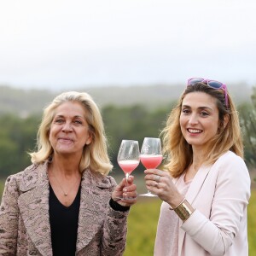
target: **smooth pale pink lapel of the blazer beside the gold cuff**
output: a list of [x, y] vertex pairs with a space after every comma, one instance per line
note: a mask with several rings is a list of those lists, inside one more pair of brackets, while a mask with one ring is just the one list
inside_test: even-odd
[[[200, 193], [201, 187], [203, 186], [208, 173], [211, 170], [211, 166], [201, 166], [201, 168], [196, 173], [193, 181], [190, 183], [189, 190], [186, 194], [186, 199], [193, 206], [193, 202], [195, 201], [196, 196]], [[183, 224], [182, 220], [179, 220], [179, 225]], [[178, 255], [181, 255], [183, 241], [185, 237], [184, 230], [180, 229], [178, 234]]]

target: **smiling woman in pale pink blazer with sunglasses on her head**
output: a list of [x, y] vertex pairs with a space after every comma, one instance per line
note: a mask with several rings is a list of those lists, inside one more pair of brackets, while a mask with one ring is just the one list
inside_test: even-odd
[[189, 79], [163, 135], [168, 172], [145, 171], [163, 201], [154, 255], [248, 255], [251, 182], [226, 85]]

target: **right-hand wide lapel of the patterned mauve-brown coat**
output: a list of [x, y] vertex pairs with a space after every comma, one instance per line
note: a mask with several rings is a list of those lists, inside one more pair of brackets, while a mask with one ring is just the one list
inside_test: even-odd
[[86, 247], [103, 229], [112, 185], [108, 177], [85, 170], [81, 182], [77, 252]]

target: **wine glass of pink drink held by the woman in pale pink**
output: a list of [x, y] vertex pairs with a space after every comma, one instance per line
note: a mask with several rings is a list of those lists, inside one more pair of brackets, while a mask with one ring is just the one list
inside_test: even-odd
[[[157, 137], [145, 137], [141, 149], [140, 160], [146, 169], [155, 169], [160, 165], [163, 159], [161, 150], [161, 141]], [[152, 194], [149, 190], [143, 196], [157, 196]]]

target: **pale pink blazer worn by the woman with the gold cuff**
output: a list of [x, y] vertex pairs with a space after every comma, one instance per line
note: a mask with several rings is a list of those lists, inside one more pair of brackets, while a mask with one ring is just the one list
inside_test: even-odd
[[[184, 223], [179, 220], [178, 256], [247, 256], [250, 185], [247, 166], [230, 151], [212, 166], [202, 166], [186, 194], [196, 210]], [[166, 227], [164, 218], [160, 215], [160, 226]]]

